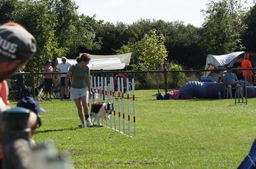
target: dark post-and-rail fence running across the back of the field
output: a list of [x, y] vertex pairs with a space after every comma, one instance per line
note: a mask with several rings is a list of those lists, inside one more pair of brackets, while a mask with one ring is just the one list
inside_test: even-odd
[[[223, 69], [225, 70], [225, 69]], [[223, 71], [222, 69], [218, 71]], [[236, 70], [254, 70], [248, 69], [234, 69]], [[116, 74], [123, 74], [129, 81], [135, 79], [135, 91], [137, 96], [143, 98], [155, 98], [158, 93], [165, 94], [170, 90], [179, 90], [181, 86], [187, 81], [200, 81], [206, 71], [216, 70], [158, 70], [158, 71], [91, 71], [91, 76], [113, 77]], [[52, 83], [47, 83], [44, 77], [46, 74], [54, 76]], [[52, 98], [60, 99], [60, 74], [65, 73], [40, 73], [40, 72], [25, 72], [15, 73], [15, 75], [8, 79], [9, 86], [9, 100], [19, 100], [25, 96], [33, 96], [36, 94], [36, 87], [42, 85], [41, 98], [46, 97], [46, 92], [49, 90]], [[24, 76], [25, 81], [20, 81], [20, 76]], [[108, 81], [109, 82], [109, 81]], [[150, 92], [148, 92], [150, 91]]]

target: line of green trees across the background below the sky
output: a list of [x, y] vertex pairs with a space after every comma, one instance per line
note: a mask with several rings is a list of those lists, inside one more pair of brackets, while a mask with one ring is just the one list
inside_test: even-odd
[[255, 50], [255, 2], [251, 8], [245, 6], [242, 0], [209, 0], [201, 11], [204, 22], [196, 27], [161, 19], [104, 22], [78, 14], [72, 0], [1, 0], [0, 24], [20, 23], [35, 36], [37, 52], [27, 71], [40, 72], [46, 60], [74, 59], [79, 52], [133, 52], [131, 70], [156, 70], [171, 64], [199, 69], [208, 54]]

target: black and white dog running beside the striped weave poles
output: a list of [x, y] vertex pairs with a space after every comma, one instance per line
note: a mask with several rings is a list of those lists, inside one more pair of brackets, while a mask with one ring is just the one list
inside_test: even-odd
[[[92, 103], [92, 108], [91, 108], [91, 119], [92, 119], [92, 123], [95, 124], [95, 122], [98, 124], [98, 126], [102, 126], [100, 124], [100, 120], [99, 119], [106, 119], [106, 111], [105, 111], [105, 102], [93, 102]], [[106, 109], [108, 111], [108, 119], [110, 119], [110, 103], [107, 103]]]

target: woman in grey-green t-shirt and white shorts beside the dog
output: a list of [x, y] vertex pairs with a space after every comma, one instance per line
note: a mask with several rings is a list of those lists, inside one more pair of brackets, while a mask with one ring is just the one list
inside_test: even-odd
[[[65, 78], [66, 83], [66, 95], [69, 94], [69, 81], [68, 79], [72, 76], [71, 88], [70, 88], [70, 99], [74, 99], [79, 118], [82, 122], [82, 127], [93, 126], [91, 119], [89, 118], [88, 108], [88, 96], [92, 96], [91, 92], [91, 80], [90, 80], [90, 69], [87, 66], [91, 60], [91, 56], [88, 53], [82, 53], [80, 57], [76, 58], [77, 64], [72, 65]], [[83, 118], [86, 118], [86, 123]]]

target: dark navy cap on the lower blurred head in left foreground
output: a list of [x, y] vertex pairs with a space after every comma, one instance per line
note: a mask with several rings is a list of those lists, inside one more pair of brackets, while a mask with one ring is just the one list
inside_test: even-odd
[[38, 101], [33, 97], [24, 97], [20, 99], [17, 103], [17, 106], [24, 107], [33, 111], [38, 119], [39, 126], [41, 125], [41, 115], [40, 112], [46, 112], [44, 108], [41, 108], [38, 104]]

